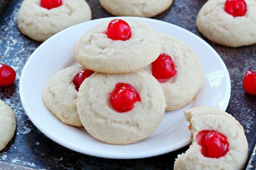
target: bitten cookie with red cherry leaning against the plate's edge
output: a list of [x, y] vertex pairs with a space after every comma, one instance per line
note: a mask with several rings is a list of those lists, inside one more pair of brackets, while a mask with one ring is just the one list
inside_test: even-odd
[[211, 107], [185, 111], [190, 122], [192, 144], [178, 155], [174, 170], [241, 170], [246, 164], [248, 143], [244, 129], [228, 113]]

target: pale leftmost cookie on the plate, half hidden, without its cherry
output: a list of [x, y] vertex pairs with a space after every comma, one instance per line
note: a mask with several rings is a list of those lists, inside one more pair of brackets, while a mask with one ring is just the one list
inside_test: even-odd
[[58, 71], [47, 82], [43, 91], [45, 106], [61, 122], [73, 126], [83, 126], [76, 110], [77, 90], [72, 82], [81, 70], [82, 67], [73, 66]]

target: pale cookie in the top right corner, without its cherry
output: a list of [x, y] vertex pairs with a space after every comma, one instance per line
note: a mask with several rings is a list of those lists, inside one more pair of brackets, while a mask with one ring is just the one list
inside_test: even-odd
[[[256, 43], [256, 1], [245, 0], [247, 11], [234, 17], [225, 9], [226, 0], [209, 0], [198, 12], [196, 26], [207, 39], [228, 47]], [[235, 5], [236, 2], [234, 2]], [[237, 6], [241, 5], [237, 1]], [[235, 11], [235, 10], [234, 10]]]

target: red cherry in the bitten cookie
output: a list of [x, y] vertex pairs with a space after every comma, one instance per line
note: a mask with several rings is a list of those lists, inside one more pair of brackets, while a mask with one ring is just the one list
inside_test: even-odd
[[229, 151], [228, 139], [215, 130], [202, 130], [196, 135], [201, 153], [207, 158], [220, 158]]

